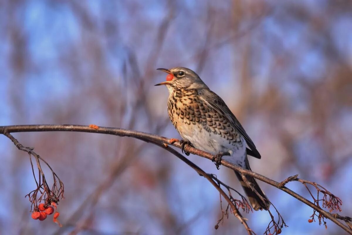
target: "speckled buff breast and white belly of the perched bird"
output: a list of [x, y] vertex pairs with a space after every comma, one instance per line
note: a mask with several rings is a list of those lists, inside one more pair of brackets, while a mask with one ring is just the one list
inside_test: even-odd
[[170, 94], [168, 113], [178, 133], [196, 148], [216, 154], [245, 145], [226, 118], [204, 104], [196, 90]]

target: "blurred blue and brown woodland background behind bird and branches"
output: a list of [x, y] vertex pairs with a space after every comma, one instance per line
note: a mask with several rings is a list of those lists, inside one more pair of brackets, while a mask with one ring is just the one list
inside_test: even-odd
[[[322, 184], [352, 216], [352, 2], [0, 1], [0, 125], [96, 124], [176, 137], [156, 68], [188, 67], [218, 93], [277, 181]], [[14, 133], [65, 184], [51, 218], [30, 217], [29, 157], [0, 136], [0, 234], [245, 234], [221, 218], [219, 193], [175, 156], [127, 137]], [[240, 188], [231, 170], [189, 159]], [[46, 172], [49, 171], [45, 169]], [[283, 234], [343, 234], [308, 223], [313, 210], [262, 184]], [[288, 187], [309, 198], [300, 183]], [[226, 204], [224, 203], [224, 206]], [[269, 214], [244, 215], [262, 234]]]

